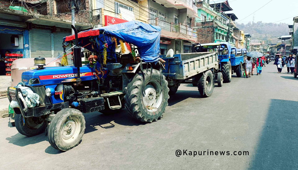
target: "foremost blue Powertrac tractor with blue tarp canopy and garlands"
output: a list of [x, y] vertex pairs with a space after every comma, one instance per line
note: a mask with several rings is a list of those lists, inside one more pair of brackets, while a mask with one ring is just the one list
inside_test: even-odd
[[[8, 88], [9, 101], [17, 103], [13, 110], [20, 134], [48, 132], [51, 146], [67, 151], [83, 137], [82, 113], [111, 114], [125, 107], [143, 122], [162, 117], [169, 88], [161, 71], [159, 27], [130, 21], [79, 33], [72, 29], [75, 34], [64, 37], [63, 43], [73, 48], [75, 66], [43, 67], [45, 59], [37, 57], [38, 69], [22, 74], [23, 86]], [[117, 44], [131, 50], [116, 52]], [[140, 53], [135, 56], [136, 46]], [[86, 66], [82, 66], [81, 47], [93, 53]], [[109, 63], [121, 67], [108, 68]], [[29, 94], [38, 95], [36, 106], [28, 104]]]

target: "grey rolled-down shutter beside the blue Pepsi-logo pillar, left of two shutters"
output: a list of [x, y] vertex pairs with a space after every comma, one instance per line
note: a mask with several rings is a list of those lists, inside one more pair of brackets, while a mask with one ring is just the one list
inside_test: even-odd
[[30, 57], [52, 57], [51, 31], [43, 29], [30, 30]]

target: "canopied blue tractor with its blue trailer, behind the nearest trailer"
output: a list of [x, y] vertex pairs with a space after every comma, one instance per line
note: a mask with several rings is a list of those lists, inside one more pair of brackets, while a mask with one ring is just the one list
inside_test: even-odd
[[243, 55], [237, 54], [237, 49], [232, 48], [228, 42], [198, 44], [199, 51], [218, 53], [219, 69], [222, 73], [224, 83], [230, 83], [233, 72], [236, 72], [237, 77], [242, 75]]

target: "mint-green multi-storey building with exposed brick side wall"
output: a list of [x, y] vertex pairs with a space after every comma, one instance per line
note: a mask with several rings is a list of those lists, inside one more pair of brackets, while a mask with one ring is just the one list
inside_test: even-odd
[[235, 46], [238, 37], [233, 35], [233, 31], [239, 31], [239, 29], [235, 25], [236, 15], [225, 13], [233, 10], [228, 1], [199, 0], [196, 2], [196, 6], [200, 18], [193, 19], [192, 26], [198, 32], [197, 41], [199, 43], [228, 41]]

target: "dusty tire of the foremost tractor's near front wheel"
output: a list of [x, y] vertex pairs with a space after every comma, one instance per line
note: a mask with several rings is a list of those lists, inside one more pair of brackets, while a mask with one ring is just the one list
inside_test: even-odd
[[[65, 143], [61, 137], [61, 130], [69, 117], [76, 117], [80, 121], [81, 127], [77, 138], [71, 143]], [[68, 151], [76, 147], [82, 141], [85, 125], [86, 121], [82, 112], [74, 108], [62, 109], [55, 115], [48, 128], [48, 138], [51, 146], [60, 151]]]

